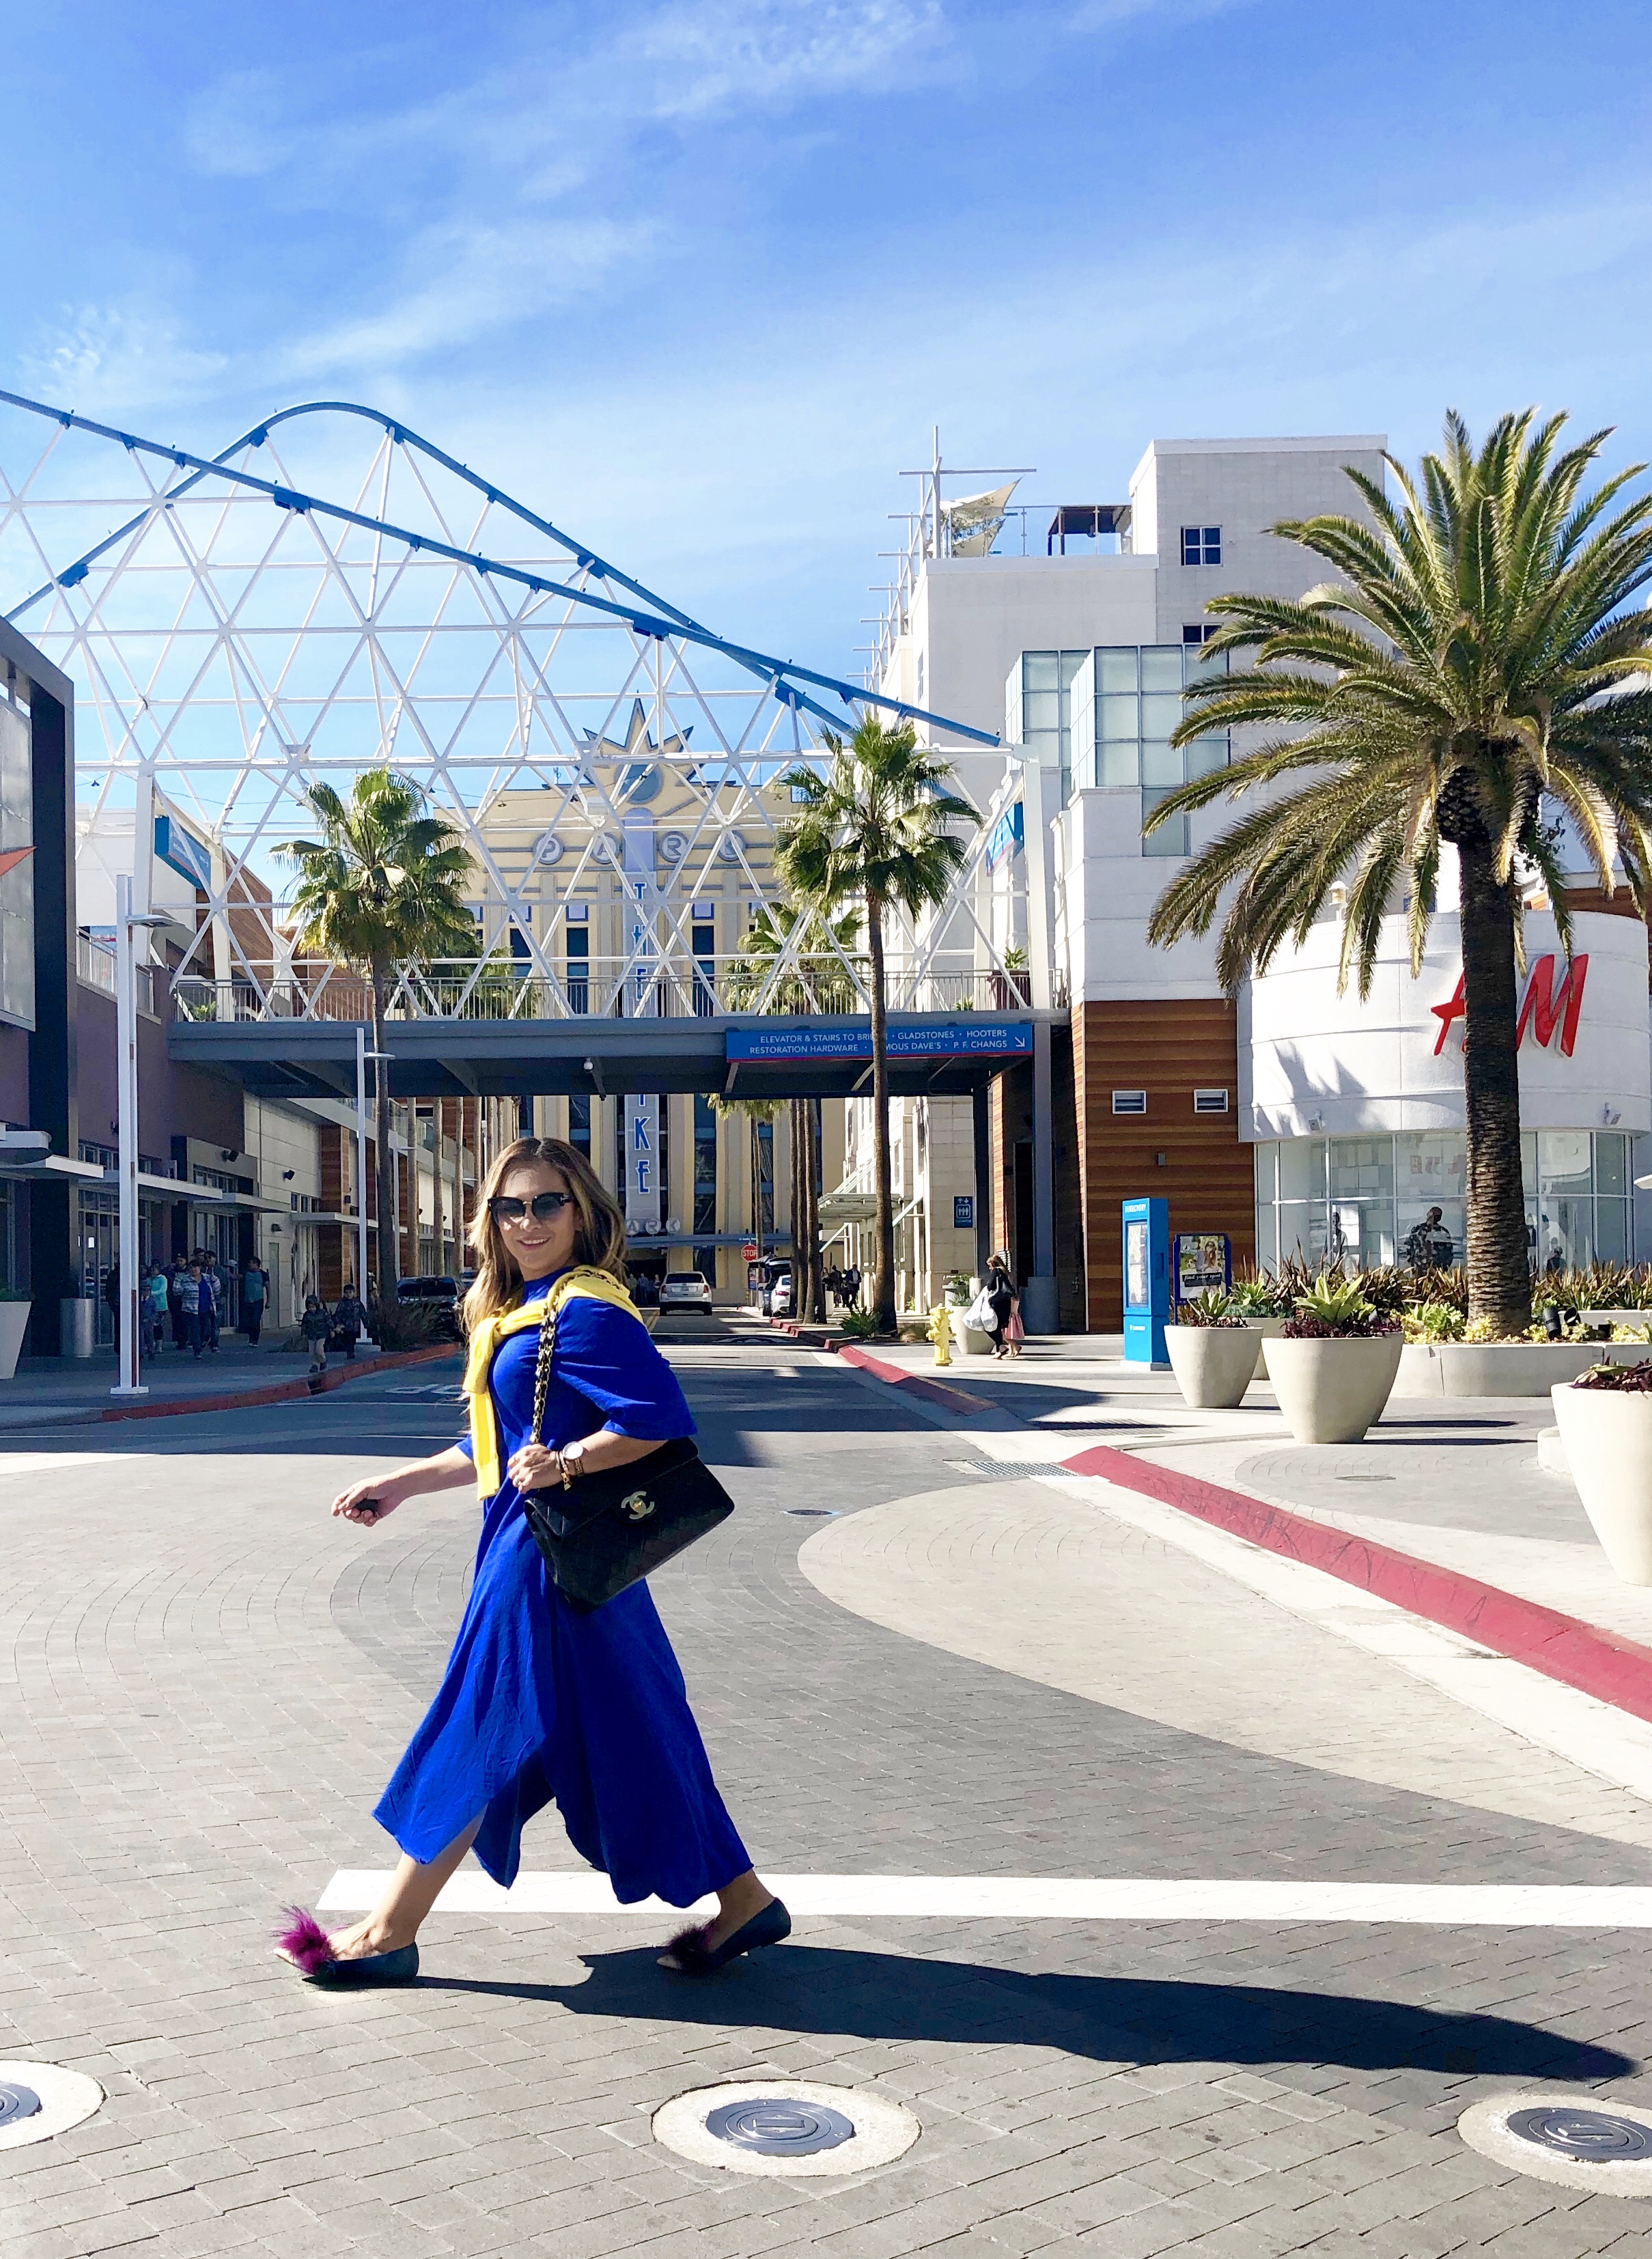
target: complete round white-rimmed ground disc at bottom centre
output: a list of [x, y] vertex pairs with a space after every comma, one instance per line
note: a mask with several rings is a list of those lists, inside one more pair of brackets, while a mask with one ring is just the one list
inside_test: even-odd
[[653, 2112], [653, 2139], [678, 2157], [768, 2178], [868, 2173], [904, 2157], [920, 2130], [884, 2094], [795, 2078], [698, 2087]]

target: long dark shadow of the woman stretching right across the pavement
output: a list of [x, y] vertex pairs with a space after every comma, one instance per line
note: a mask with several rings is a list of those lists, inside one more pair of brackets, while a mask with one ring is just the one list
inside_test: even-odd
[[427, 1977], [425, 1990], [533, 1999], [572, 2015], [809, 2031], [857, 2040], [1060, 2047], [1098, 2062], [1336, 2062], [1446, 2076], [1623, 2078], [1611, 2047], [1501, 2015], [1270, 1986], [1019, 1974], [974, 1961], [784, 1945], [710, 1981], [662, 1970], [658, 1945], [583, 1954], [583, 1983]]

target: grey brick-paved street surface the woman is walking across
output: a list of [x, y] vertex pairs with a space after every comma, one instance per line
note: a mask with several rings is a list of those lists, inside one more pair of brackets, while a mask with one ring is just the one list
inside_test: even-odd
[[[1333, 1606], [694, 1324], [669, 1351], [741, 1511], [655, 1597], [759, 1868], [1652, 1884], [1652, 1803]], [[9, 1439], [0, 2056], [108, 2099], [0, 2153], [7, 2259], [1652, 2248], [1643, 2205], [1455, 2130], [1523, 2087], [1652, 2103], [1632, 1929], [800, 1916], [694, 1988], [655, 1965], [669, 1916], [438, 1911], [416, 1988], [301, 1986], [271, 1925], [391, 1861], [368, 1812], [475, 1536], [463, 1493], [373, 1534], [325, 1507], [450, 1439], [452, 1383]], [[524, 1868], [574, 1866], [540, 1816]], [[922, 2132], [838, 2180], [653, 2142], [664, 2101], [744, 2078], [872, 2090]]]

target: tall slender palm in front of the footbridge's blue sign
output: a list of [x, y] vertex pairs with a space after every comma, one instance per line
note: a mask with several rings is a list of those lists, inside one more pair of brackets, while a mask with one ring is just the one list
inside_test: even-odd
[[802, 813], [775, 834], [775, 870], [795, 901], [829, 915], [845, 901], [866, 910], [872, 969], [872, 1152], [877, 1168], [877, 1270], [872, 1308], [879, 1333], [895, 1333], [895, 1200], [888, 1163], [888, 989], [884, 917], [936, 910], [965, 863], [945, 825], [979, 825], [967, 800], [949, 793], [951, 764], [918, 743], [911, 723], [886, 730], [868, 714], [854, 736], [825, 732], [825, 777], [793, 768], [782, 777]]

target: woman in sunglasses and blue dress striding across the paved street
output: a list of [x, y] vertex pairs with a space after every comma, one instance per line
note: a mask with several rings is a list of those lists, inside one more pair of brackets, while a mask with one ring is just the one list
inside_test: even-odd
[[[646, 1584], [576, 1615], [545, 1570], [522, 1491], [628, 1466], [694, 1432], [682, 1392], [621, 1285], [626, 1227], [590, 1163], [560, 1139], [520, 1139], [488, 1170], [466, 1294], [470, 1439], [434, 1459], [350, 1484], [332, 1502], [373, 1527], [405, 1500], [475, 1482], [481, 1543], [447, 1674], [395, 1767], [375, 1818], [402, 1861], [362, 1922], [328, 1936], [307, 1913], [278, 1938], [312, 1983], [407, 1983], [418, 1927], [475, 1846], [506, 1889], [524, 1823], [551, 1798], [574, 1850], [615, 1898], [692, 1907], [716, 1893], [703, 1929], [664, 1968], [703, 1977], [777, 1945], [791, 1916], [753, 1873], [716, 1794], [682, 1672]], [[554, 1362], [545, 1437], [533, 1439], [533, 1376], [545, 1299]]]

